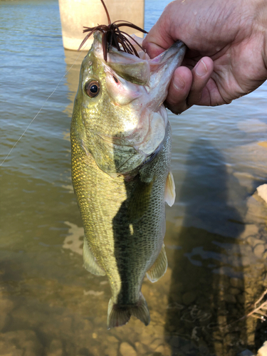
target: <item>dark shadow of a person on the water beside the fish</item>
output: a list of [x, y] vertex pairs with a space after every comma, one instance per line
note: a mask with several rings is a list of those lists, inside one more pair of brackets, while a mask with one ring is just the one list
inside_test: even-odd
[[184, 221], [171, 237], [179, 248], [169, 261], [172, 279], [165, 339], [172, 355], [236, 355], [246, 345], [246, 329], [236, 323], [224, 327], [245, 315], [236, 239], [244, 224], [239, 212], [227, 204], [226, 165], [211, 142], [193, 143], [187, 167], [177, 197], [186, 204]]

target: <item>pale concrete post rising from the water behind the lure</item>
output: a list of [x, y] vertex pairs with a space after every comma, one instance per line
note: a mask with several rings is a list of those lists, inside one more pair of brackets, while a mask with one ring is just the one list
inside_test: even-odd
[[[61, 14], [63, 46], [77, 51], [87, 33], [83, 26], [94, 27], [98, 24], [108, 25], [105, 9], [100, 0], [58, 0]], [[104, 0], [110, 14], [111, 22], [117, 20], [130, 21], [144, 28], [145, 0]], [[142, 32], [134, 28], [122, 27], [122, 31], [130, 35], [135, 33], [142, 37]], [[93, 42], [93, 36], [88, 39], [83, 50], [88, 51]]]

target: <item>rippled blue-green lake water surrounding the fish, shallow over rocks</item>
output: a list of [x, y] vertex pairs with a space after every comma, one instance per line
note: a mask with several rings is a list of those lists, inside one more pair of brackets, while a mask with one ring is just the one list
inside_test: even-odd
[[[147, 31], [167, 2], [146, 2]], [[169, 268], [144, 281], [150, 325], [132, 318], [108, 331], [110, 288], [83, 268], [70, 182], [84, 53], [64, 51], [57, 1], [1, 1], [0, 23], [1, 162], [70, 69], [0, 168], [1, 355], [255, 352], [266, 322], [237, 320], [267, 288], [266, 205], [255, 194], [267, 181], [267, 85], [231, 105], [169, 114], [177, 189], [167, 208]]]

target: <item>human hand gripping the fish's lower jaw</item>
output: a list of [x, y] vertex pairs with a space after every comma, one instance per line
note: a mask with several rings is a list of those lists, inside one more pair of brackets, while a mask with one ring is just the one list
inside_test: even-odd
[[176, 114], [231, 103], [267, 79], [266, 0], [172, 1], [142, 46], [154, 58], [178, 39], [188, 50], [165, 102]]

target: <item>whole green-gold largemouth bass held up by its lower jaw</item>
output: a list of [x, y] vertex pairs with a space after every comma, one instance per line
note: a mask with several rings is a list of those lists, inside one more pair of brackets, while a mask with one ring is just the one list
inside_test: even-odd
[[103, 58], [102, 33], [80, 69], [71, 122], [72, 180], [85, 230], [83, 260], [108, 276], [108, 328], [150, 312], [141, 286], [167, 270], [165, 206], [174, 203], [171, 127], [162, 103], [185, 46], [175, 43], [150, 59], [111, 47]]

